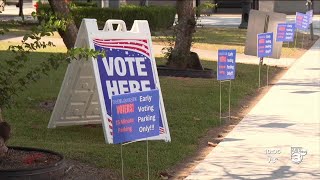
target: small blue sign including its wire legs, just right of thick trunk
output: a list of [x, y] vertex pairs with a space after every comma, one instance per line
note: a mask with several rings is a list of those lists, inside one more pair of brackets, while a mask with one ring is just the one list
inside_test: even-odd
[[[231, 81], [235, 79], [236, 74], [236, 50], [218, 50], [218, 63], [217, 63], [217, 80], [220, 84], [220, 124], [222, 118], [231, 119]], [[221, 84], [222, 82], [229, 81], [229, 116], [222, 117], [222, 95]]]

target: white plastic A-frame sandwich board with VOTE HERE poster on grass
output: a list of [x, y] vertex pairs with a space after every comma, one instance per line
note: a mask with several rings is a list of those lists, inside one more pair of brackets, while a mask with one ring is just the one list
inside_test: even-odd
[[146, 20], [135, 20], [132, 29], [127, 31], [122, 20], [108, 20], [104, 29], [99, 30], [96, 19], [83, 19], [75, 47], [103, 50], [106, 57], [79, 59], [68, 65], [48, 128], [102, 122], [105, 141], [112, 144], [115, 130], [111, 97], [158, 89], [160, 135], [148, 140], [171, 141], [151, 45]]

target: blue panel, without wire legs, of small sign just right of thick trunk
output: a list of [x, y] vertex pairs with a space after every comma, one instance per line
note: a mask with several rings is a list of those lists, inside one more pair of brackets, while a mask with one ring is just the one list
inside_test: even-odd
[[217, 79], [234, 79], [236, 74], [236, 50], [218, 50]]

